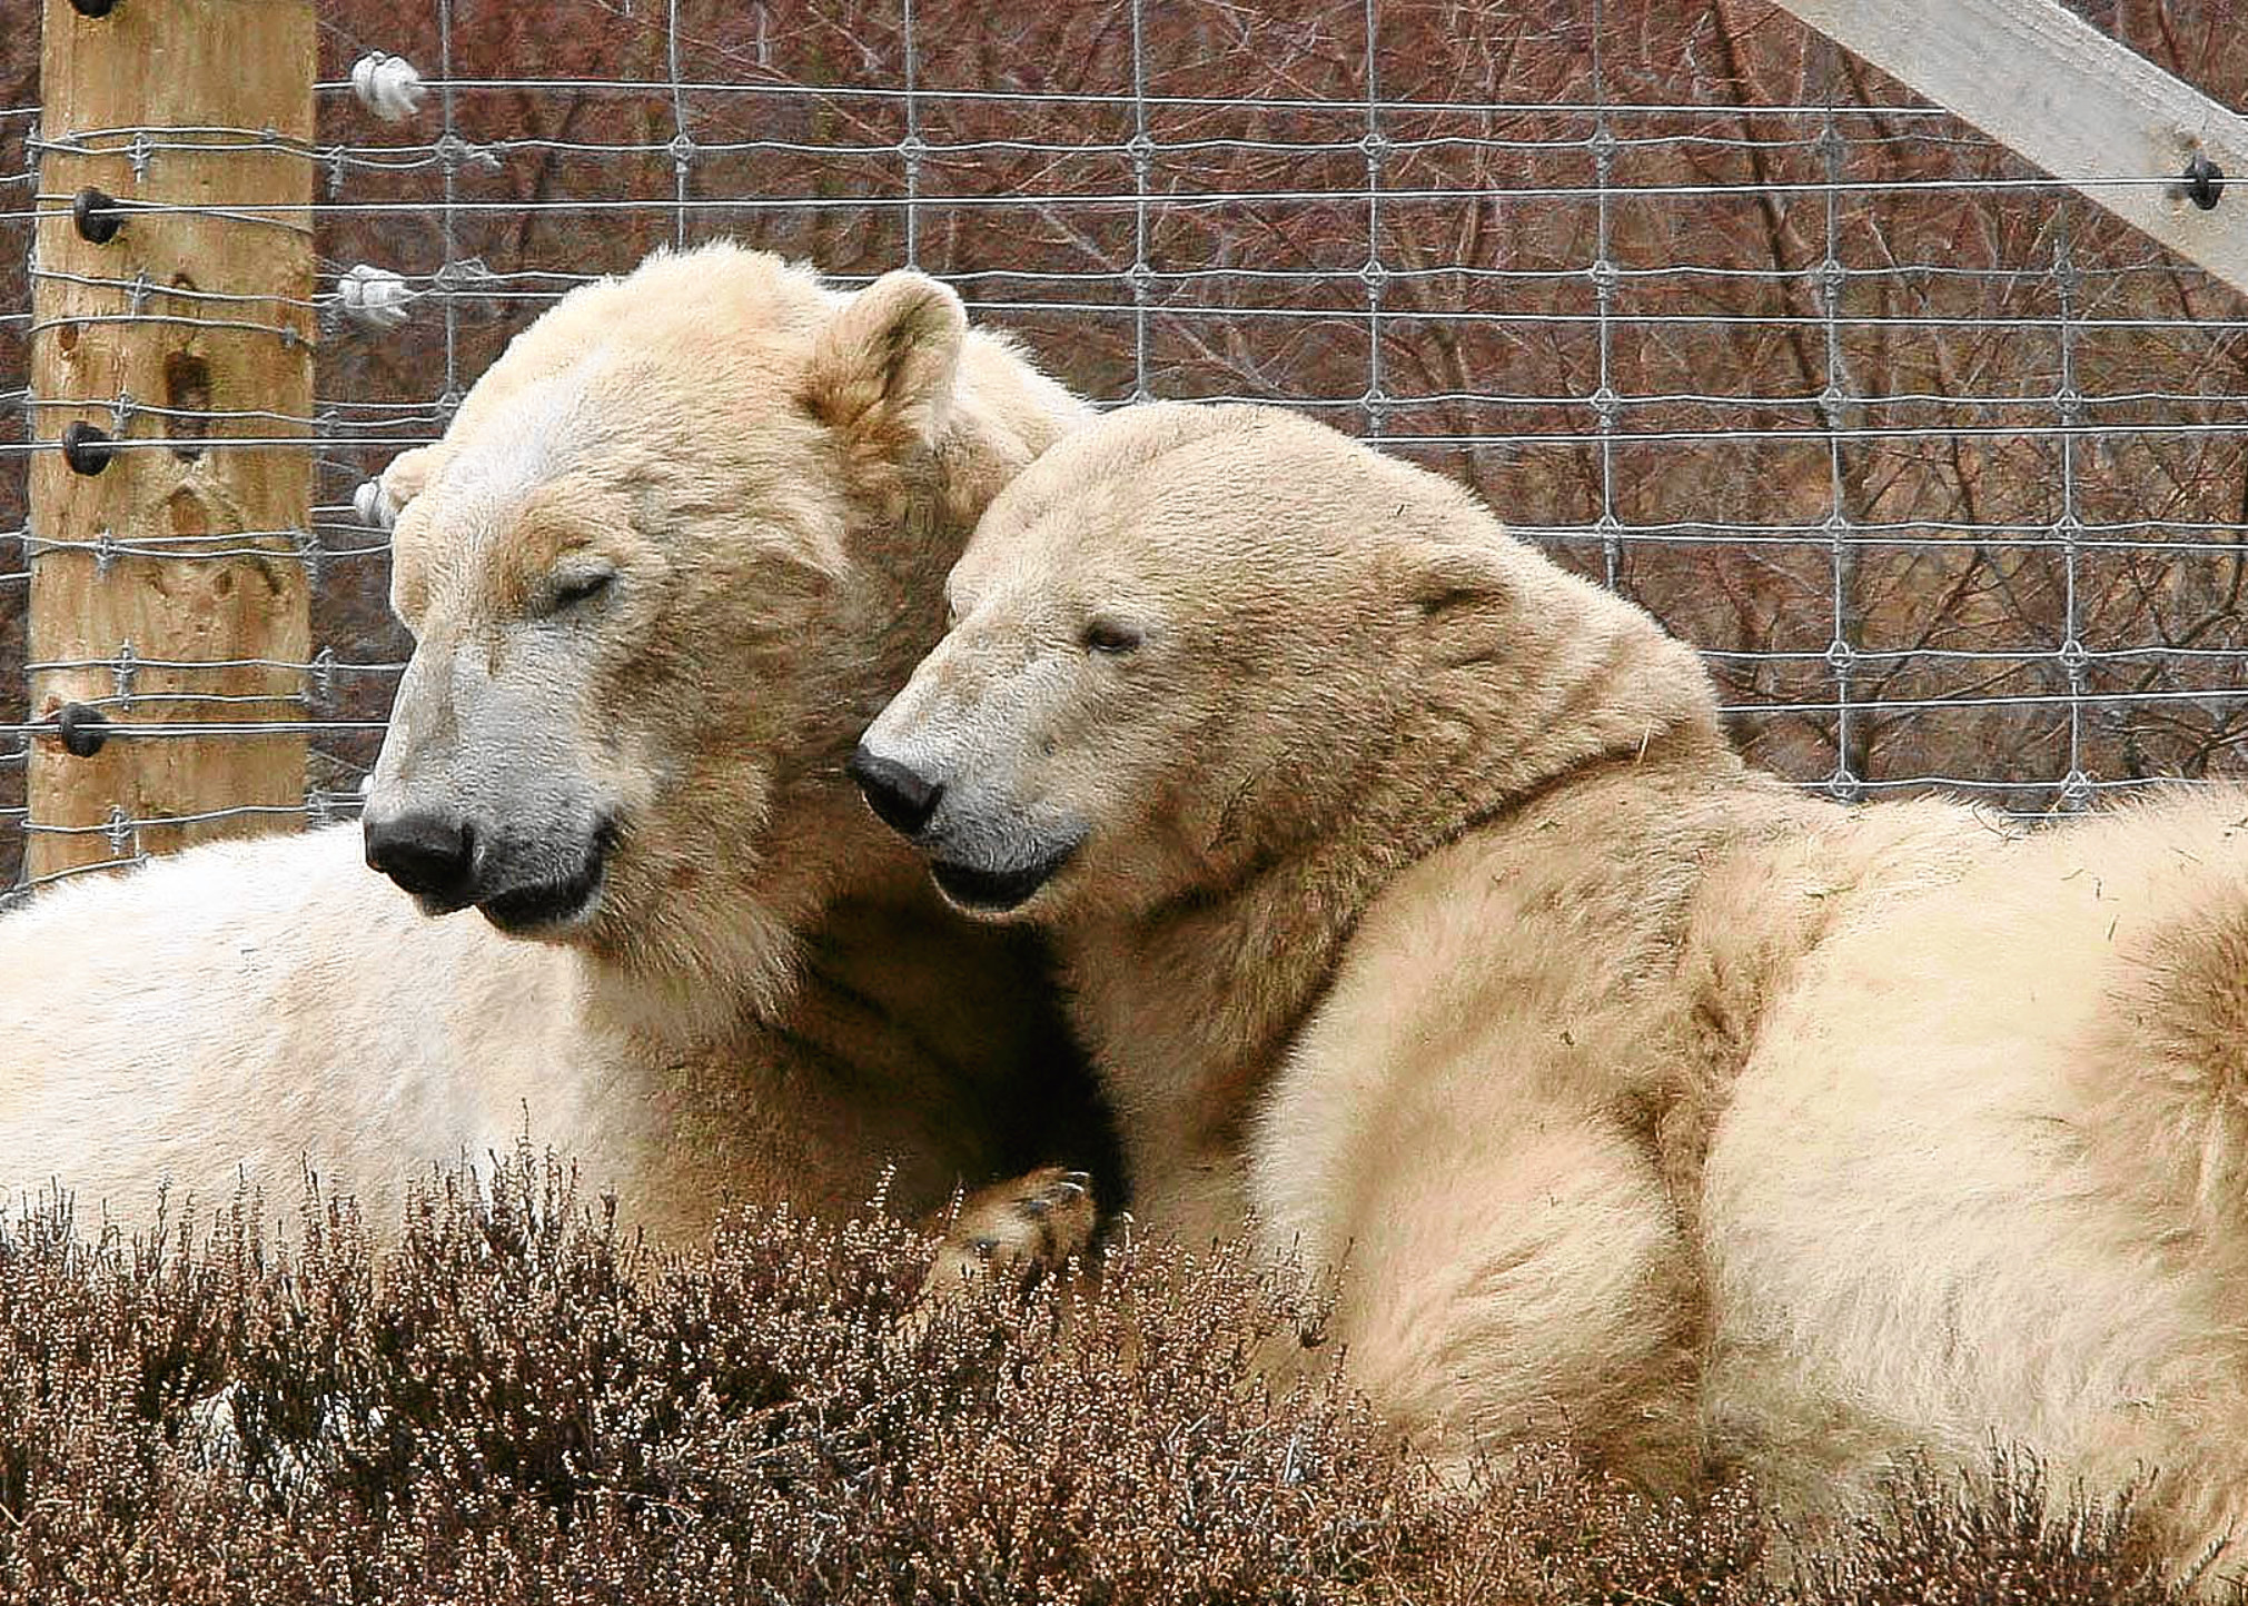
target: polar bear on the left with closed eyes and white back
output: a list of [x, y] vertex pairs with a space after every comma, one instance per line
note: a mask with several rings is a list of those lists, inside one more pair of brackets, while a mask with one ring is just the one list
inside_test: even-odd
[[1039, 947], [944, 911], [843, 776], [978, 511], [1081, 416], [910, 272], [841, 295], [710, 245], [564, 297], [384, 477], [418, 646], [364, 839], [0, 920], [0, 1188], [144, 1219], [160, 1181], [294, 1199], [308, 1156], [387, 1235], [409, 1179], [528, 1129], [679, 1237], [886, 1165], [928, 1210], [1097, 1161]]

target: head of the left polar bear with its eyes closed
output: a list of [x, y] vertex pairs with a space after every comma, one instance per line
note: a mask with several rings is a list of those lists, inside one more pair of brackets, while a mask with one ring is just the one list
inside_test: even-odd
[[839, 295], [719, 245], [569, 295], [384, 477], [416, 648], [369, 861], [643, 976], [785, 963], [879, 839], [856, 729], [1077, 416], [910, 272]]

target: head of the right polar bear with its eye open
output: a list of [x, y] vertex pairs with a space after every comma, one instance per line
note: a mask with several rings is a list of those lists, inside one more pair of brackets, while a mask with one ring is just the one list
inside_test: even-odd
[[1340, 834], [1425, 850], [1708, 679], [1466, 490], [1268, 407], [1122, 409], [953, 569], [852, 774], [962, 909], [1131, 918]]

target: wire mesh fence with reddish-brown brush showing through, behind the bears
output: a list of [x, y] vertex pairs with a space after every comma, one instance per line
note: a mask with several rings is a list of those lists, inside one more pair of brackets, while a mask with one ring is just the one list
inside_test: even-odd
[[[2084, 9], [2248, 97], [2226, 0]], [[411, 646], [360, 484], [558, 295], [719, 234], [843, 283], [942, 274], [1111, 403], [1279, 400], [1470, 481], [1697, 643], [1756, 760], [1837, 796], [2050, 812], [2248, 747], [2248, 304], [1751, 0], [321, 0], [319, 22], [319, 506], [292, 533], [319, 646], [290, 666], [315, 740], [283, 816], [351, 812]], [[40, 142], [90, 133], [34, 97], [18, 31], [11, 666], [40, 538], [22, 463], [52, 450], [13, 263], [70, 202], [38, 193]], [[130, 643], [103, 668], [133, 706]], [[220, 697], [178, 702], [227, 727]], [[142, 825], [112, 821], [117, 857]]]

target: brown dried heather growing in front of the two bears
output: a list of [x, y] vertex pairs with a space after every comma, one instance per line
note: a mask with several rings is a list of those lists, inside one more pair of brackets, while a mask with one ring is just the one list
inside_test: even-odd
[[870, 1210], [740, 1210], [701, 1253], [522, 1149], [434, 1174], [375, 1264], [308, 1179], [142, 1237], [0, 1235], [7, 1602], [2129, 1602], [2127, 1512], [1927, 1469], [1778, 1561], [1747, 1489], [1637, 1496], [1542, 1444], [1448, 1489], [1338, 1386], [1254, 1356], [1315, 1316], [1236, 1251], [931, 1323]]

